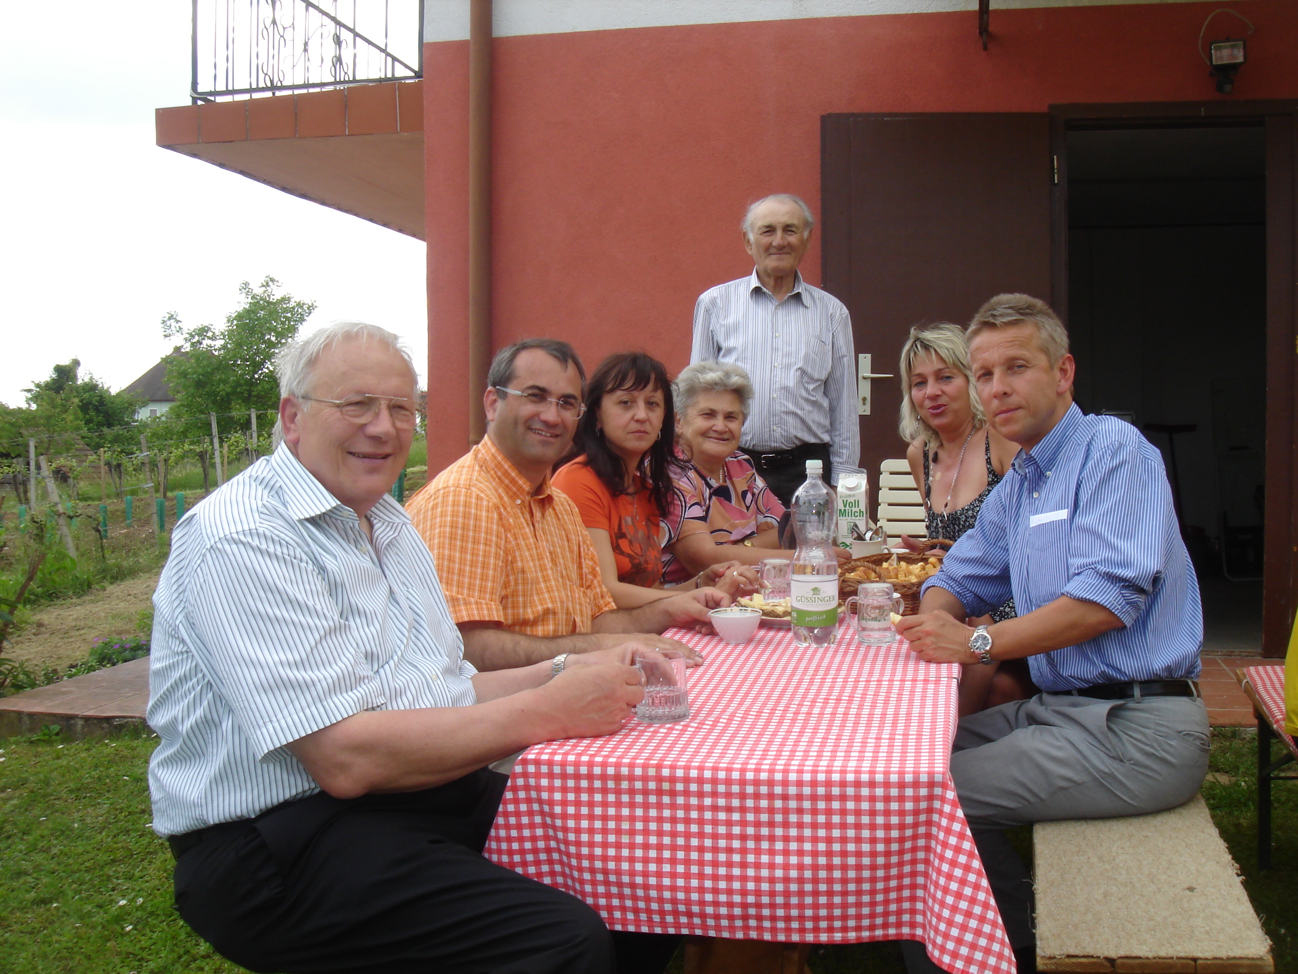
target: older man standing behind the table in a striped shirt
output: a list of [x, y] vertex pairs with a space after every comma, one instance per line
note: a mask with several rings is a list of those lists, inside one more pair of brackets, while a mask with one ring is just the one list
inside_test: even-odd
[[798, 273], [814, 225], [797, 196], [748, 208], [741, 229], [753, 273], [698, 297], [689, 356], [733, 362], [752, 378], [741, 449], [785, 505], [807, 460], [820, 460], [833, 483], [861, 473], [851, 321], [842, 301]]

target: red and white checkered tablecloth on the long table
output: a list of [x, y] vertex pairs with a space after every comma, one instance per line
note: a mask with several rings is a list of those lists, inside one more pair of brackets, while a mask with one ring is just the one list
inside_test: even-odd
[[1014, 971], [948, 771], [957, 668], [787, 630], [704, 652], [688, 721], [631, 719], [518, 760], [487, 855], [615, 930], [784, 943], [923, 940]]

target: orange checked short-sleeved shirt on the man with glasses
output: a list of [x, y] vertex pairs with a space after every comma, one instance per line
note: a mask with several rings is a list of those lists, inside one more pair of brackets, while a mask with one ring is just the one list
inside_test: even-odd
[[567, 495], [536, 495], [491, 436], [406, 504], [432, 552], [457, 622], [500, 622], [531, 636], [589, 632], [617, 605]]

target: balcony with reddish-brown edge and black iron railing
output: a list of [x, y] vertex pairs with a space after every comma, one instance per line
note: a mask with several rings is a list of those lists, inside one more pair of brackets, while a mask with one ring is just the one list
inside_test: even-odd
[[423, 239], [422, 25], [422, 0], [193, 0], [157, 144]]

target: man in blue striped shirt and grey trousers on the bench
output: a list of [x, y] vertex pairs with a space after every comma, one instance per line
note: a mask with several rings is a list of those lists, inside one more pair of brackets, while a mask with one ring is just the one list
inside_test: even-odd
[[[963, 718], [951, 755], [1020, 970], [1031, 970], [1031, 880], [1002, 830], [1159, 812], [1198, 791], [1203, 616], [1162, 456], [1133, 426], [1073, 404], [1054, 312], [998, 295], [968, 338], [988, 421], [1022, 449], [925, 584], [920, 614], [897, 629], [935, 662], [1027, 658], [1042, 690]], [[964, 625], [1011, 595], [1018, 618]], [[909, 952], [907, 962], [928, 961]]]

